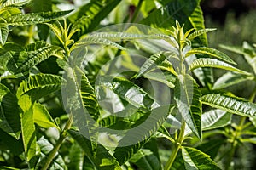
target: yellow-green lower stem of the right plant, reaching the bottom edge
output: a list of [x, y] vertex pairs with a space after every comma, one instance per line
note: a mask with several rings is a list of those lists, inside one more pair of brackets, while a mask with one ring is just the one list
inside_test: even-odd
[[174, 144], [174, 147], [172, 150], [172, 155], [169, 157], [169, 160], [166, 162], [165, 170], [169, 170], [172, 167], [172, 164], [177, 157], [177, 152], [182, 147], [183, 139], [184, 139], [184, 132], [185, 132], [185, 125], [186, 125], [186, 123], [183, 122], [180, 133], [178, 134], [178, 137], [175, 141], [175, 144]]

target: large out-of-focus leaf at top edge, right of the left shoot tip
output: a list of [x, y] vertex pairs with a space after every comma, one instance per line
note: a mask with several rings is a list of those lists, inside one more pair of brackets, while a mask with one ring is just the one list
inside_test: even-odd
[[[68, 17], [72, 23], [75, 23], [76, 20], [79, 22], [74, 24], [73, 29], [79, 29], [78, 37], [95, 30], [96, 26], [115, 8], [120, 0], [109, 0], [108, 2], [99, 0], [91, 1], [90, 3], [85, 4], [79, 10]], [[86, 18], [84, 16], [87, 16]]]

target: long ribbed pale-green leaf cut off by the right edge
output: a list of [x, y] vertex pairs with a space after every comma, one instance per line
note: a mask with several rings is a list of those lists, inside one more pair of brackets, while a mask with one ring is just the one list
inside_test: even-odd
[[214, 108], [228, 111], [241, 116], [256, 116], [256, 105], [244, 99], [234, 98], [225, 94], [206, 94], [201, 102]]

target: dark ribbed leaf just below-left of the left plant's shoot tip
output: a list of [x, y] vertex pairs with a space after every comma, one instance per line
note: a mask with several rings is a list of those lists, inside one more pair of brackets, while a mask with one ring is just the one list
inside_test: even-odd
[[38, 65], [58, 51], [61, 51], [61, 48], [52, 46], [44, 41], [39, 41], [30, 43], [25, 47], [25, 50], [20, 53], [19, 59], [16, 61], [17, 70], [15, 70], [15, 73], [28, 71], [34, 65]]

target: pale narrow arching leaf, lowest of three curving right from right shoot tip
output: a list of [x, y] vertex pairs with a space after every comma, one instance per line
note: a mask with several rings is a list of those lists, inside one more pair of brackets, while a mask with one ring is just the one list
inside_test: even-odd
[[189, 70], [193, 71], [201, 67], [219, 68], [227, 71], [236, 71], [241, 74], [251, 75], [251, 73], [248, 73], [247, 71], [241, 71], [240, 69], [237, 69], [232, 65], [224, 63], [223, 61], [219, 61], [218, 59], [196, 59], [195, 61], [193, 61], [191, 65], [189, 65]]

